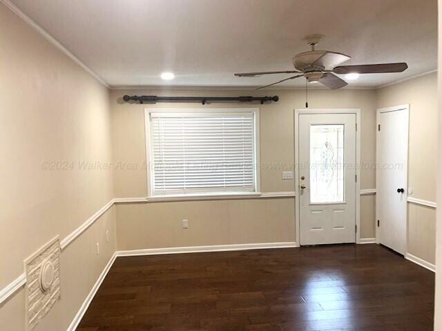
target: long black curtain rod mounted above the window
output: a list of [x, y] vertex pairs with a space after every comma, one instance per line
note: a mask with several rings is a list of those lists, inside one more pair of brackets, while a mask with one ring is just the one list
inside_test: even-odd
[[125, 95], [123, 100], [128, 101], [140, 101], [140, 103], [157, 103], [157, 102], [198, 102], [203, 105], [211, 102], [252, 102], [260, 101], [261, 104], [266, 101], [278, 101], [277, 95], [273, 97], [157, 97], [156, 95]]

